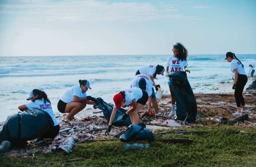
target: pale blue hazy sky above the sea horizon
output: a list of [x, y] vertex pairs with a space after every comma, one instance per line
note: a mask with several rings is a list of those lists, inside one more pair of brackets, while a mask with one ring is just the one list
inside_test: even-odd
[[0, 0], [0, 56], [256, 53], [256, 0]]

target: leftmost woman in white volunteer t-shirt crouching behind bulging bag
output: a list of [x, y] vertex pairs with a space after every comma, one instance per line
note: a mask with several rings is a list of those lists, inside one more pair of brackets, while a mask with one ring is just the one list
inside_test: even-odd
[[19, 106], [18, 109], [20, 111], [24, 111], [28, 108], [36, 108], [36, 109], [46, 111], [51, 116], [54, 122], [54, 126], [48, 132], [46, 132], [42, 136], [42, 138], [51, 138], [51, 139], [55, 138], [60, 131], [60, 125], [59, 125], [59, 121], [57, 121], [56, 118], [54, 117], [52, 104], [48, 99], [46, 93], [44, 91], [34, 89], [30, 92], [27, 100], [31, 100], [31, 102], [25, 105]]

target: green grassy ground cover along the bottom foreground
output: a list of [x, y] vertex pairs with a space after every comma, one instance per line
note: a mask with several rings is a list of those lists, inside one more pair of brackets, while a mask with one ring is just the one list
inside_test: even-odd
[[[204, 134], [155, 135], [156, 139], [190, 138], [191, 144], [150, 142], [148, 149], [124, 150], [119, 139], [106, 142], [77, 144], [71, 154], [35, 153], [32, 155], [4, 154], [2, 166], [255, 166], [255, 128], [237, 126], [204, 126], [184, 129], [203, 131]], [[240, 133], [248, 131], [248, 134]], [[133, 143], [133, 142], [131, 142]], [[147, 143], [147, 141], [139, 141]], [[33, 157], [33, 158], [32, 158]], [[62, 162], [81, 158], [83, 161]]]

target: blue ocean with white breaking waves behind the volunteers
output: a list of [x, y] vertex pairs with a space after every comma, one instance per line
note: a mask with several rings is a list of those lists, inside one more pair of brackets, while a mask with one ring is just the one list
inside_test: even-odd
[[[26, 104], [33, 89], [48, 95], [54, 113], [59, 113], [57, 103], [64, 92], [79, 85], [79, 79], [87, 79], [91, 90], [87, 95], [101, 97], [112, 103], [113, 96], [130, 88], [132, 78], [139, 67], [146, 64], [163, 65], [170, 55], [106, 55], [106, 56], [21, 56], [0, 57], [0, 121], [18, 112], [18, 106]], [[189, 55], [187, 73], [194, 93], [227, 92], [232, 87], [230, 63], [225, 55]], [[249, 72], [249, 64], [256, 64], [256, 54], [240, 54], [237, 57]], [[256, 75], [256, 74], [255, 74]], [[157, 75], [164, 93], [169, 93], [167, 77]], [[247, 86], [250, 83], [248, 79]], [[247, 87], [246, 86], [246, 87]], [[230, 89], [229, 89], [230, 90]], [[92, 108], [88, 105], [86, 108]]]

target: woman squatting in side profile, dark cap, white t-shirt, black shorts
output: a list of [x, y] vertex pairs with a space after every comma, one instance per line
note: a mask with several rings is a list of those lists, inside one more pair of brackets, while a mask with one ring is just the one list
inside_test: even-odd
[[72, 121], [74, 116], [82, 111], [87, 104], [93, 105], [90, 101], [91, 96], [87, 96], [86, 91], [91, 89], [88, 80], [79, 80], [80, 86], [69, 88], [60, 98], [58, 102], [58, 110], [61, 113], [69, 113], [65, 118], [67, 121]]

